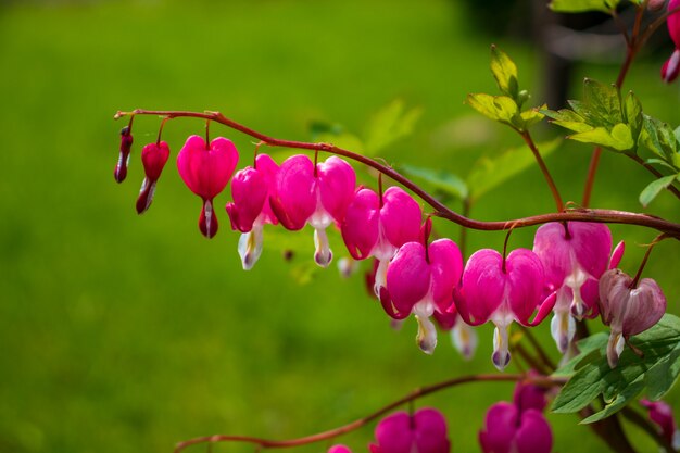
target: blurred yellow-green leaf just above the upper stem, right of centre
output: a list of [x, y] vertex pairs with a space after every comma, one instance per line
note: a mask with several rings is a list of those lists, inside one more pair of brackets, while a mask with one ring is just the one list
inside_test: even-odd
[[[562, 139], [538, 143], [541, 155], [545, 158], [555, 151]], [[495, 188], [506, 179], [524, 172], [534, 163], [534, 158], [528, 147], [513, 148], [503, 154], [490, 159], [479, 159], [467, 177], [467, 187], [470, 191], [470, 199], [477, 200], [482, 194]]]

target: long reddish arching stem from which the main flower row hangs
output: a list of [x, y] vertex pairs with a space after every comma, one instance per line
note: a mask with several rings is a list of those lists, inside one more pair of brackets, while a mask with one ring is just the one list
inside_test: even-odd
[[230, 127], [235, 130], [254, 137], [259, 140], [264, 141], [266, 144], [270, 147], [281, 147], [281, 148], [294, 148], [301, 150], [312, 150], [312, 151], [324, 151], [329, 152], [337, 155], [342, 155], [344, 158], [351, 159], [356, 162], [361, 162], [364, 165], [367, 165], [372, 168], [377, 169], [386, 176], [394, 179], [405, 188], [410, 189], [414, 193], [416, 193], [420, 199], [423, 199], [427, 204], [435, 209], [432, 215], [445, 218], [451, 221], [457, 225], [464, 226], [466, 228], [473, 228], [483, 231], [499, 231], [506, 230], [511, 228], [524, 228], [534, 225], [541, 225], [549, 222], [596, 222], [596, 223], [609, 223], [609, 224], [626, 224], [626, 225], [639, 225], [647, 228], [657, 229], [660, 232], [667, 234], [669, 237], [673, 237], [680, 240], [680, 224], [675, 224], [672, 222], [666, 221], [660, 217], [655, 217], [646, 214], [638, 214], [630, 213], [625, 211], [612, 211], [612, 210], [587, 210], [587, 209], [572, 209], [566, 210], [565, 212], [551, 213], [551, 214], [540, 214], [533, 215], [529, 217], [511, 219], [511, 221], [501, 221], [501, 222], [483, 222], [476, 221], [473, 218], [465, 217], [449, 207], [446, 207], [439, 200], [430, 196], [428, 192], [418, 187], [415, 183], [411, 181], [405, 176], [402, 176], [400, 173], [395, 172], [393, 168], [380, 164], [376, 160], [367, 158], [365, 155], [356, 154], [352, 151], [344, 150], [342, 148], [338, 148], [330, 143], [308, 143], [304, 141], [293, 141], [293, 140], [281, 140], [273, 137], [267, 137], [262, 133], [257, 133], [247, 126], [243, 126], [239, 123], [234, 122], [225, 117], [219, 112], [207, 112], [207, 113], [199, 113], [199, 112], [185, 112], [185, 111], [155, 111], [155, 110], [135, 110], [133, 112], [117, 112], [114, 118], [119, 118], [123, 116], [129, 115], [155, 115], [155, 116], [168, 116], [171, 118], [175, 117], [194, 117], [194, 118], [203, 118], [203, 119], [212, 119], [216, 123], [223, 124], [227, 127]]

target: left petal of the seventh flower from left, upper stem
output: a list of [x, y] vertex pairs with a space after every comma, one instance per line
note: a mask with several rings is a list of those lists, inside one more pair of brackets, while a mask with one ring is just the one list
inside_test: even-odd
[[430, 269], [425, 261], [425, 247], [419, 242], [406, 242], [387, 270], [387, 290], [400, 312], [410, 313], [430, 288]]

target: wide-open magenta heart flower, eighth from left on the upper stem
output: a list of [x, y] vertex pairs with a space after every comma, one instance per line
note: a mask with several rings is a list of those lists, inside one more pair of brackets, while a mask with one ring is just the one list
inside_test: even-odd
[[455, 305], [469, 325], [488, 320], [495, 325], [491, 358], [500, 370], [509, 363], [507, 335], [513, 320], [536, 326], [555, 304], [554, 293], [543, 301], [543, 278], [541, 261], [527, 249], [514, 250], [505, 261], [495, 250], [478, 250], [465, 265]]

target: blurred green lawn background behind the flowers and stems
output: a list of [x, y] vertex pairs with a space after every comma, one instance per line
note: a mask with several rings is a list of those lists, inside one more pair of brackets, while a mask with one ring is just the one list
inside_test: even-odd
[[[292, 438], [364, 416], [421, 385], [491, 373], [489, 327], [479, 329], [470, 363], [445, 334], [426, 356], [413, 343], [415, 322], [391, 330], [361, 273], [345, 281], [335, 266], [313, 269], [308, 229], [267, 229], [263, 257], [242, 272], [238, 235], [222, 209], [217, 237], [199, 234], [200, 201], [174, 158], [153, 206], [138, 216], [139, 150], [155, 139], [158, 118], [136, 119], [128, 178], [118, 186], [112, 177], [124, 125], [112, 119], [116, 110], [219, 110], [265, 134], [310, 140], [317, 121], [362, 137], [395, 99], [423, 115], [413, 135], [381, 155], [465, 175], [479, 155], [520, 144], [463, 104], [467, 92], [495, 90], [489, 45], [516, 60], [524, 87], [540, 86], [541, 74], [537, 46], [491, 37], [469, 17], [462, 1], [444, 0], [0, 5], [0, 452], [169, 452], [180, 440], [213, 433]], [[647, 112], [677, 125], [678, 85], [658, 77], [665, 58], [643, 55], [627, 87]], [[577, 65], [574, 96], [584, 75], [612, 81], [616, 71]], [[202, 130], [199, 121], [173, 121], [164, 138], [176, 153]], [[239, 166], [250, 162], [249, 137], [213, 130], [237, 143]], [[547, 160], [566, 199], [580, 200], [589, 159], [587, 148], [563, 147]], [[592, 204], [641, 211], [637, 196], [650, 180], [605, 153]], [[227, 199], [223, 193], [216, 205]], [[662, 193], [648, 211], [679, 222], [677, 206]], [[473, 215], [506, 219], [552, 209], [531, 167], [486, 196]], [[437, 228], [457, 238], [455, 226]], [[643, 254], [637, 244], [655, 235], [613, 230], [628, 241], [622, 267], [634, 272]], [[531, 247], [532, 234], [517, 231], [513, 247]], [[503, 235], [470, 231], [468, 239], [468, 250], [499, 249]], [[331, 241], [339, 257], [341, 241]], [[288, 247], [295, 250], [290, 262], [282, 260]], [[645, 273], [676, 314], [678, 250], [662, 243]], [[537, 329], [556, 356], [547, 330]], [[444, 412], [454, 451], [476, 451], [486, 408], [509, 400], [512, 389], [471, 385], [417, 405]], [[677, 389], [669, 400], [678, 407]], [[556, 451], [602, 446], [576, 417], [549, 417]], [[631, 437], [642, 451], [656, 451], [639, 431]], [[339, 441], [361, 452], [372, 438], [368, 426]]]

